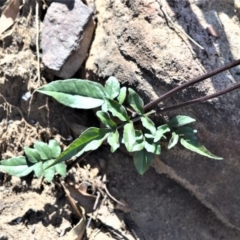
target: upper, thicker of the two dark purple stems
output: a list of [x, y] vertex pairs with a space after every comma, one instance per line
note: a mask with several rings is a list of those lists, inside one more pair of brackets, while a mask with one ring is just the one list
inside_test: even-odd
[[[155, 108], [158, 105], [158, 103], [162, 102], [163, 100], [173, 96], [177, 92], [179, 92], [179, 91], [181, 91], [181, 90], [183, 90], [183, 89], [185, 89], [185, 88], [187, 88], [187, 87], [189, 87], [189, 86], [191, 86], [195, 83], [201, 82], [201, 81], [203, 81], [207, 78], [210, 78], [210, 77], [212, 77], [216, 74], [219, 74], [223, 71], [226, 71], [230, 68], [233, 68], [233, 67], [235, 67], [239, 64], [240, 64], [240, 59], [238, 59], [236, 61], [233, 61], [231, 63], [228, 63], [228, 64], [224, 65], [223, 67], [217, 68], [217, 69], [215, 69], [215, 70], [213, 70], [209, 73], [205, 73], [202, 76], [196, 77], [196, 78], [192, 79], [191, 81], [186, 82], [186, 83], [168, 91], [167, 93], [163, 94], [161, 97], [157, 98], [156, 100], [151, 101], [150, 103], [148, 103], [147, 105], [144, 106], [144, 111], [149, 111], [149, 110]], [[192, 100], [192, 101], [194, 101], [194, 100]]]

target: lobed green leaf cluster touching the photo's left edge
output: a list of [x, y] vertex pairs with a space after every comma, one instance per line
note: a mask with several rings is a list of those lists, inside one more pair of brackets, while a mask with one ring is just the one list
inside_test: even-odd
[[65, 163], [51, 166], [61, 153], [61, 148], [55, 140], [50, 140], [48, 144], [36, 141], [33, 148], [25, 147], [24, 152], [25, 156], [0, 161], [0, 170], [17, 177], [34, 172], [37, 178], [44, 176], [48, 182], [52, 181], [55, 172], [66, 175]]

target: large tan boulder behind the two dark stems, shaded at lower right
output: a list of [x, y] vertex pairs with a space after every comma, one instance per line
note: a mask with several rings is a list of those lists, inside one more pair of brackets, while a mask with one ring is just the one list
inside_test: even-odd
[[[167, 3], [168, 2], [168, 3]], [[115, 76], [143, 96], [145, 103], [193, 77], [240, 58], [240, 25], [228, 1], [166, 1], [164, 10], [190, 35], [201, 50], [166, 22], [157, 0], [96, 0], [98, 26], [85, 77]], [[206, 31], [211, 24], [220, 38]], [[171, 28], [170, 28], [170, 27]], [[220, 91], [240, 81], [235, 67], [187, 89], [166, 106]], [[176, 148], [164, 151], [154, 162], [197, 196], [226, 224], [240, 229], [240, 111], [238, 92], [170, 112], [197, 120], [199, 141], [223, 161], [204, 158]], [[160, 122], [160, 117], [155, 119]]]

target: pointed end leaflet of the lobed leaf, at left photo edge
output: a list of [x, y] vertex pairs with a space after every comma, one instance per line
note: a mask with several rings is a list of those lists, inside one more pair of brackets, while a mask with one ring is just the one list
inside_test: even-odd
[[0, 170], [16, 177], [28, 175], [32, 172], [33, 167], [34, 165], [28, 165], [26, 158], [23, 156], [0, 161]]

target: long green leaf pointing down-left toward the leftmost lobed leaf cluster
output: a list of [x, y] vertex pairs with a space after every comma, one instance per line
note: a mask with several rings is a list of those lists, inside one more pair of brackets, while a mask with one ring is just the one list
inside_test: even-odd
[[88, 128], [57, 157], [54, 164], [69, 160], [75, 155], [80, 156], [83, 152], [97, 149], [110, 132], [110, 129]]

